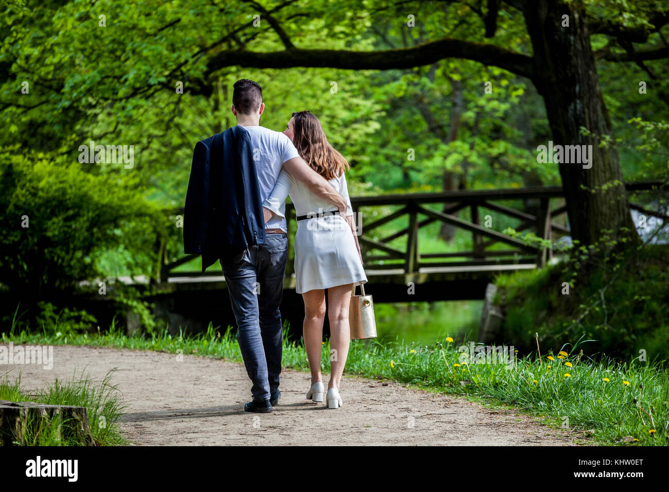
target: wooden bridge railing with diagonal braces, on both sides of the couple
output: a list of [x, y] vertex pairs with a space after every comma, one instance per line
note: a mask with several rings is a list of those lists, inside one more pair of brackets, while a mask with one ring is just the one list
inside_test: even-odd
[[[644, 191], [660, 185], [658, 181], [628, 183], [628, 191]], [[523, 203], [524, 210], [514, 203]], [[567, 207], [562, 187], [527, 187], [522, 189], [444, 191], [438, 193], [407, 193], [353, 197], [351, 204], [359, 227], [358, 240], [363, 252], [365, 270], [401, 270], [418, 273], [421, 268], [466, 268], [500, 264], [536, 264], [543, 266], [559, 251], [553, 245], [562, 236], [569, 236]], [[636, 203], [630, 208], [649, 216], [667, 220], [658, 212], [646, 210]], [[178, 211], [177, 211], [178, 213]], [[183, 210], [181, 210], [183, 213]], [[289, 253], [286, 274], [294, 271], [293, 232], [295, 210], [286, 203]], [[431, 250], [421, 251], [419, 232], [435, 222], [460, 231], [465, 249], [456, 249], [455, 242], [432, 241]], [[529, 244], [501, 232], [500, 222], [516, 232], [533, 232], [543, 241]], [[514, 224], [514, 222], [516, 222]], [[470, 236], [462, 240], [464, 235]], [[423, 234], [423, 238], [425, 238]], [[438, 245], [438, 250], [434, 250]], [[169, 276], [220, 275], [220, 270], [205, 272], [174, 271], [199, 255], [186, 255], [169, 261], [164, 242], [159, 250], [159, 274], [156, 280]]]

